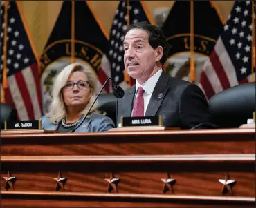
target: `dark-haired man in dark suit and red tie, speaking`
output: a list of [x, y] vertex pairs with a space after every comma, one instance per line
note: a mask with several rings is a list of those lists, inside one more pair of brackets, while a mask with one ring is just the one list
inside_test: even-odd
[[145, 22], [130, 25], [123, 47], [125, 70], [136, 85], [116, 103], [117, 125], [121, 116], [161, 115], [165, 127], [181, 129], [212, 121], [201, 89], [163, 72], [168, 43], [161, 30]]

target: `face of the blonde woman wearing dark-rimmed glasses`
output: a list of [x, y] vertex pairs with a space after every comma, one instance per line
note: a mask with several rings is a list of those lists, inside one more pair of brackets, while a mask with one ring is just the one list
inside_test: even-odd
[[84, 72], [73, 72], [68, 77], [66, 85], [62, 88], [66, 107], [84, 108], [92, 96], [87, 76]]

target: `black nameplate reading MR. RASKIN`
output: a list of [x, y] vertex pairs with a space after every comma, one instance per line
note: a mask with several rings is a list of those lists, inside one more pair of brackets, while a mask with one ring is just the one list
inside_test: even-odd
[[5, 121], [5, 130], [26, 130], [26, 129], [42, 129], [41, 120], [32, 121]]

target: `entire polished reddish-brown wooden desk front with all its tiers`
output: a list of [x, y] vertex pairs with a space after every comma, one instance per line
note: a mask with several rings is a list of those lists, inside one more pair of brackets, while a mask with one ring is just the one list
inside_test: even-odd
[[[255, 130], [2, 135], [2, 207], [254, 207]], [[58, 172], [68, 178], [55, 190]], [[111, 172], [119, 178], [108, 192]], [[176, 183], [165, 194], [161, 179]], [[223, 194], [219, 179], [236, 180]]]

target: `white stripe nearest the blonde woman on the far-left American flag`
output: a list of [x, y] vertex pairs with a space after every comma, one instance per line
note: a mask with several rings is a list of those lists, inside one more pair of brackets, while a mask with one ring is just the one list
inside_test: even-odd
[[[21, 71], [27, 86], [35, 86], [35, 79], [31, 71], [32, 71], [31, 67], [26, 67], [24, 70]], [[41, 114], [40, 105], [37, 99], [37, 89], [35, 87], [28, 87], [27, 89], [30, 96], [28, 100], [30, 100], [33, 105], [33, 110], [34, 110], [33, 115], [35, 116], [34, 119], [35, 118], [39, 119], [42, 116], [42, 114]]]

